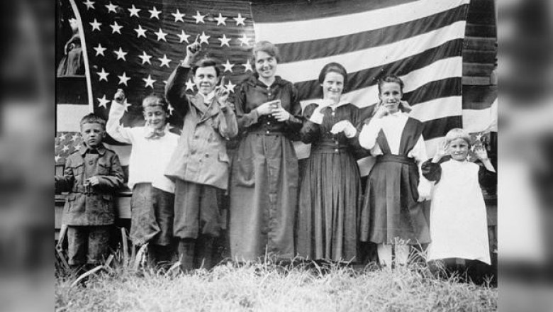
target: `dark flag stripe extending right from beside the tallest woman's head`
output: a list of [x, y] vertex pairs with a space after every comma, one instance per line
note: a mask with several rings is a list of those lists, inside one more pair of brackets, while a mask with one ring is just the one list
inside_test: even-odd
[[[320, 57], [329, 57], [347, 52], [354, 52], [381, 45], [388, 45], [396, 41], [411, 38], [422, 33], [449, 26], [464, 21], [467, 15], [468, 4], [455, 9], [427, 16], [415, 21], [369, 30], [361, 33], [352, 33], [336, 38], [323, 38], [302, 43], [281, 43], [277, 48], [286, 51], [281, 55], [281, 62], [298, 62]], [[331, 49], [327, 47], [331, 46]]]

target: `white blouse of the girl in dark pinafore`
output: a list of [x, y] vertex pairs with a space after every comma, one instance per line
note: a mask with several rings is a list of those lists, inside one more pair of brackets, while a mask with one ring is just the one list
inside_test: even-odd
[[[359, 133], [359, 145], [366, 150], [370, 150], [373, 156], [384, 154], [380, 146], [376, 144], [376, 138], [379, 135], [380, 129], [382, 129], [384, 135], [386, 135], [386, 141], [388, 142], [391, 153], [393, 155], [398, 155], [401, 133], [403, 133], [403, 128], [405, 128], [408, 118], [408, 115], [401, 111], [391, 113], [382, 118], [372, 118], [369, 124], [363, 126], [361, 133]], [[415, 162], [417, 162], [420, 177], [418, 184], [419, 198], [430, 199], [432, 184], [423, 177], [422, 169], [420, 168], [423, 162], [428, 160], [426, 145], [422, 135], [418, 138], [413, 150], [408, 152], [407, 157], [414, 158]]]

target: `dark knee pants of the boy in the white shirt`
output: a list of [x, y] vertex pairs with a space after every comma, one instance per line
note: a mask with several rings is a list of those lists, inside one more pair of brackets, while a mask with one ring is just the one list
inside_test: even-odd
[[173, 238], [174, 194], [151, 183], [133, 187], [130, 199], [130, 239], [135, 245], [171, 245]]

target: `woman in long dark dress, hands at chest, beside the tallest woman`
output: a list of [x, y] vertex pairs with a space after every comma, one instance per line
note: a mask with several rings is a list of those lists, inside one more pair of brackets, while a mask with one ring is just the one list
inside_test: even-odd
[[338, 63], [319, 74], [323, 99], [303, 113], [303, 143], [311, 155], [303, 171], [297, 253], [312, 260], [352, 261], [357, 257], [361, 181], [354, 151], [359, 146], [358, 108], [340, 101], [347, 72]]

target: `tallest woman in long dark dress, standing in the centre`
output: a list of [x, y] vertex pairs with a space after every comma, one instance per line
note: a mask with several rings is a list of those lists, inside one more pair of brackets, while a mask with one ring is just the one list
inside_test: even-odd
[[230, 251], [238, 261], [290, 259], [298, 193], [291, 140], [301, 128], [301, 106], [294, 85], [275, 75], [279, 54], [272, 43], [257, 43], [253, 59], [256, 73], [235, 97], [242, 139], [230, 181]]

